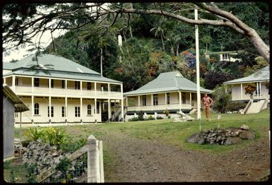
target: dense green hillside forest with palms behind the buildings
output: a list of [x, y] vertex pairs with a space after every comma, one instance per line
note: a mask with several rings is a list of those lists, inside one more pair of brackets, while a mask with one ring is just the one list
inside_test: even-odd
[[[133, 4], [145, 8], [153, 4]], [[227, 11], [232, 11], [238, 18], [256, 29], [266, 42], [268, 37], [268, 8], [261, 3], [221, 3]], [[163, 8], [167, 9], [166, 5]], [[194, 16], [194, 11], [184, 11], [184, 15]], [[203, 18], [211, 18], [202, 13]], [[83, 66], [100, 72], [100, 49], [103, 49], [103, 75], [124, 83], [124, 92], [135, 90], [165, 71], [180, 71], [189, 80], [196, 82], [196, 70], [188, 65], [188, 55], [194, 54], [194, 26], [177, 20], [154, 15], [131, 15], [129, 27], [127, 16], [117, 18], [116, 23], [107, 29], [107, 33], [89, 34], [94, 25], [79, 30], [71, 30], [57, 39], [45, 50], [78, 62]], [[110, 22], [113, 18], [107, 18]], [[122, 35], [122, 47], [118, 46], [117, 35]], [[252, 73], [262, 64], [254, 60], [259, 54], [249, 40], [224, 27], [211, 25], [199, 26], [201, 50], [201, 82], [204, 88], [213, 89], [226, 80], [241, 78], [244, 73]], [[193, 50], [192, 50], [193, 49]], [[239, 54], [242, 62], [220, 61], [219, 55], [212, 55], [210, 60], [205, 51], [245, 50]]]

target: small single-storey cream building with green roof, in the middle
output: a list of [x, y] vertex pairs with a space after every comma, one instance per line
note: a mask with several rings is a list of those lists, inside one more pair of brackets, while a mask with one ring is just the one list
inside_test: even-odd
[[[211, 90], [200, 88], [201, 94]], [[124, 93], [127, 114], [143, 111], [146, 114], [189, 112], [197, 107], [196, 83], [184, 78], [178, 71], [160, 73], [154, 80], [137, 90]]]

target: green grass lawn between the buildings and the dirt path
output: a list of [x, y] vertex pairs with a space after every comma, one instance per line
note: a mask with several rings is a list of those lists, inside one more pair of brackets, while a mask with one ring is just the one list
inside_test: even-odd
[[[240, 127], [247, 124], [256, 134], [256, 138], [268, 135], [270, 111], [266, 109], [258, 114], [220, 114], [221, 119], [218, 120], [218, 114], [212, 113], [212, 121], [206, 121], [204, 114], [201, 114], [201, 121], [172, 122], [172, 119], [159, 119], [150, 121], [134, 121], [126, 123], [110, 123], [110, 124], [91, 124], [76, 126], [60, 126], [66, 129], [69, 135], [75, 138], [88, 138], [93, 134], [100, 139], [102, 135], [107, 133], [126, 133], [131, 137], [142, 138], [148, 141], [160, 141], [167, 145], [174, 145], [177, 148], [187, 148], [191, 150], [202, 150], [209, 153], [224, 153], [237, 147], [243, 147], [254, 141], [243, 141], [238, 145], [197, 145], [187, 143], [187, 138], [200, 129], [213, 129], [218, 124], [227, 128], [230, 126]], [[196, 114], [193, 115], [196, 118]], [[23, 131], [26, 129], [23, 128]], [[15, 129], [16, 138], [19, 137], [19, 129]]]

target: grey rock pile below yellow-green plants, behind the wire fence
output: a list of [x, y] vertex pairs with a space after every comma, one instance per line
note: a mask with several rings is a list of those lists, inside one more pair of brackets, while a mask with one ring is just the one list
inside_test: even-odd
[[[57, 150], [56, 145], [50, 145], [49, 143], [44, 144], [41, 140], [37, 140], [36, 142], [29, 143], [23, 154], [23, 163], [28, 165], [28, 167], [34, 165], [34, 175], [37, 175], [46, 172], [49, 167], [56, 166], [61, 159], [69, 155], [71, 155], [71, 153], [64, 153], [62, 150]], [[78, 166], [81, 165], [83, 165], [83, 161], [75, 160], [71, 162], [69, 172], [73, 172], [73, 170], [78, 169]], [[87, 172], [87, 169], [83, 171]], [[63, 175], [62, 172], [57, 172], [54, 175], [54, 179], [58, 179], [61, 175]]]

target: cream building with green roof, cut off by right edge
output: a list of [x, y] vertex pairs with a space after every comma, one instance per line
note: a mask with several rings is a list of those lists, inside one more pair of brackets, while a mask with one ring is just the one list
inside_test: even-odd
[[267, 86], [270, 82], [269, 68], [270, 66], [266, 66], [247, 77], [224, 82], [223, 84], [225, 85], [232, 85], [232, 100], [248, 102], [250, 97], [245, 94], [244, 88], [252, 83], [256, 85], [256, 90], [253, 96], [254, 100], [270, 99], [269, 88]]

